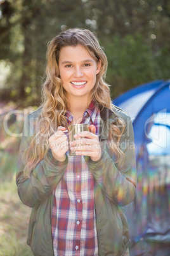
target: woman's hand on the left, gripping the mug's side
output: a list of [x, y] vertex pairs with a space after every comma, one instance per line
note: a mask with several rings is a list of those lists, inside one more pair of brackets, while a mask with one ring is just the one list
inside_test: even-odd
[[63, 132], [65, 130], [65, 127], [59, 126], [55, 134], [48, 139], [53, 157], [60, 162], [65, 160], [65, 153], [69, 150], [68, 139]]

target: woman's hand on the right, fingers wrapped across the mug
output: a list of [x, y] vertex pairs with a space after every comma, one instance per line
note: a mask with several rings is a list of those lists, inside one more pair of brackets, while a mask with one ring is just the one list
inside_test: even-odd
[[74, 135], [74, 138], [76, 140], [70, 143], [70, 149], [74, 151], [76, 155], [88, 155], [93, 161], [100, 159], [101, 147], [98, 136], [96, 135], [95, 125], [90, 125], [90, 132], [79, 132]]

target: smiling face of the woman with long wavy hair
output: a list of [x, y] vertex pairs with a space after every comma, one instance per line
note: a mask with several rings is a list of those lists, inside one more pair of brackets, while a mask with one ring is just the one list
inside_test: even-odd
[[96, 75], [100, 72], [100, 61], [97, 63], [82, 45], [64, 46], [60, 50], [58, 66], [70, 101], [76, 97], [81, 97], [82, 101], [90, 99]]

